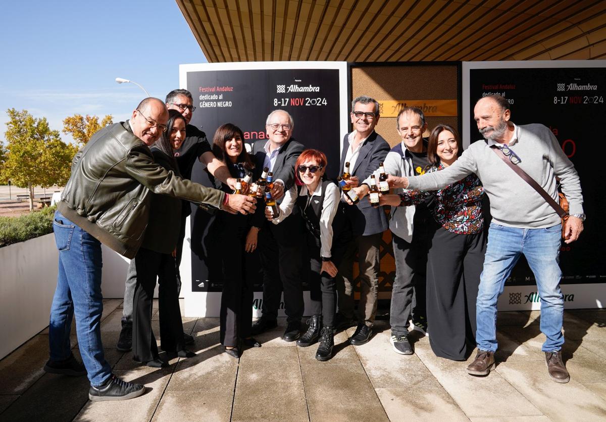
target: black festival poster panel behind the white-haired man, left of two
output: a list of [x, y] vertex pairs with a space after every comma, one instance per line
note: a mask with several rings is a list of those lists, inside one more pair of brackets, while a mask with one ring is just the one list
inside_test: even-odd
[[[215, 130], [230, 122], [244, 132], [251, 146], [267, 139], [265, 119], [276, 109], [286, 110], [295, 122], [293, 138], [306, 148], [319, 149], [328, 158], [328, 177], [339, 167], [340, 121], [338, 69], [204, 70], [187, 72], [187, 89], [196, 111], [191, 124], [200, 127], [211, 142]], [[199, 162], [192, 180], [210, 186]], [[194, 207], [193, 207], [194, 208]], [[221, 260], [232, 251], [216, 247], [220, 227], [214, 216], [195, 208], [191, 216], [191, 278], [193, 292], [220, 292], [223, 285]], [[255, 290], [262, 290], [257, 253], [248, 256], [247, 276]]]

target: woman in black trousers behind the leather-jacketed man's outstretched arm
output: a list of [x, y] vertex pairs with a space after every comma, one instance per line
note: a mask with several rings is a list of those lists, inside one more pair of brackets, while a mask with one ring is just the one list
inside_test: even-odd
[[[155, 162], [179, 175], [173, 150], [185, 139], [185, 119], [176, 110], [168, 111], [167, 130], [151, 147]], [[181, 199], [150, 193], [150, 216], [141, 248], [130, 261], [128, 276], [136, 272], [133, 298], [133, 358], [151, 367], [164, 367], [151, 329], [153, 292], [158, 278], [160, 347], [179, 357], [193, 357], [185, 350], [183, 324], [175, 272], [175, 248], [181, 227]]]

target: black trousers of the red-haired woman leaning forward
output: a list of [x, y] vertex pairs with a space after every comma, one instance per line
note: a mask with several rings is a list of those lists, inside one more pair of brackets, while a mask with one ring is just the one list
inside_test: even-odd
[[[336, 312], [336, 283], [335, 277], [331, 277], [322, 270], [321, 243], [311, 232], [307, 236], [307, 253], [309, 255], [309, 294], [311, 315], [322, 315], [322, 323], [332, 327], [335, 322]], [[333, 238], [333, 243], [335, 242]], [[333, 264], [338, 268], [345, 253], [347, 244], [336, 244], [330, 251]]]

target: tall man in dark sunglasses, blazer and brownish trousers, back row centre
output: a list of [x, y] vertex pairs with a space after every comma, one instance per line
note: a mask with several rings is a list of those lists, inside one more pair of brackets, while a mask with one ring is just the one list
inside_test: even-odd
[[[379, 121], [379, 103], [368, 96], [359, 96], [351, 102], [351, 124], [353, 132], [343, 138], [341, 172], [345, 162], [350, 163], [350, 174], [355, 186], [379, 168], [389, 152], [389, 144], [375, 132]], [[344, 200], [345, 196], [344, 196]], [[336, 327], [351, 326], [353, 320], [353, 263], [356, 250], [360, 276], [360, 302], [356, 319], [358, 327], [350, 343], [359, 345], [370, 340], [375, 323], [379, 289], [379, 250], [381, 236], [387, 230], [387, 218], [383, 207], [373, 208], [370, 203], [360, 201], [345, 207], [345, 215], [351, 222], [353, 241], [347, 248], [336, 278], [339, 312]]]

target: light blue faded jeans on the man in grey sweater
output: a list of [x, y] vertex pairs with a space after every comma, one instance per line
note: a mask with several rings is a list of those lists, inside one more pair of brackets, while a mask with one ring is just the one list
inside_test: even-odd
[[484, 270], [480, 275], [476, 318], [478, 349], [496, 351], [496, 303], [505, 280], [522, 253], [534, 273], [541, 296], [541, 332], [547, 340], [542, 350], [562, 349], [564, 334], [564, 296], [560, 290], [562, 271], [559, 267], [562, 226], [545, 229], [516, 229], [490, 223]]

